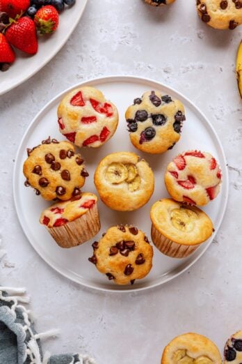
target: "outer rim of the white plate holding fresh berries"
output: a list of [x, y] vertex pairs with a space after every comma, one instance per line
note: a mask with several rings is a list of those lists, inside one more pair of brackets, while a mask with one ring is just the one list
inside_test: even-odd
[[70, 32], [66, 33], [66, 35], [63, 37], [63, 42], [60, 43], [60, 45], [56, 48], [56, 50], [54, 50], [53, 54], [51, 54], [51, 56], [47, 57], [47, 59], [41, 63], [40, 62], [40, 66], [38, 66], [33, 73], [30, 73], [27, 77], [25, 77], [22, 80], [19, 80], [18, 82], [14, 83], [12, 86], [7, 86], [5, 89], [1, 90], [0, 89], [0, 96], [4, 95], [5, 93], [8, 93], [9, 91], [16, 89], [17, 86], [20, 86], [21, 84], [24, 84], [24, 82], [26, 82], [28, 79], [30, 79], [31, 77], [33, 77], [34, 75], [36, 75], [36, 73], [39, 72], [39, 70], [41, 70], [43, 67], [45, 67], [47, 65], [47, 63], [49, 63], [51, 61], [51, 59], [54, 58], [54, 56], [56, 56], [56, 54], [58, 52], [60, 52], [61, 48], [64, 47], [65, 43], [67, 43], [67, 40], [70, 38], [70, 36], [72, 36], [72, 33], [74, 31], [74, 29], [76, 28], [77, 24], [79, 23], [79, 21], [81, 20], [81, 17], [85, 11], [86, 5], [88, 3], [88, 0], [82, 0], [83, 1], [83, 8], [81, 9], [79, 15], [75, 18], [74, 22], [72, 22], [72, 25], [70, 26]]

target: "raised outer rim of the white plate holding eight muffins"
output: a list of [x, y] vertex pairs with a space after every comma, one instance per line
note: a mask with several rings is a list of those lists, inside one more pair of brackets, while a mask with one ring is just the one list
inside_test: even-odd
[[[88, 0], [86, 0], [88, 1]], [[19, 156], [21, 156], [20, 151], [22, 149], [22, 144], [24, 142], [24, 139], [26, 139], [26, 137], [29, 135], [29, 131], [31, 130], [31, 128], [33, 127], [33, 125], [35, 124], [35, 122], [37, 121], [37, 119], [39, 118], [40, 114], [42, 114], [42, 112], [44, 112], [46, 109], [49, 108], [49, 105], [51, 105], [51, 103], [54, 103], [58, 98], [60, 98], [61, 96], [63, 96], [65, 93], [67, 93], [68, 91], [75, 89], [76, 87], [80, 87], [80, 86], [84, 86], [86, 84], [92, 84], [92, 86], [94, 86], [94, 84], [97, 84], [99, 82], [132, 82], [135, 81], [137, 83], [142, 83], [142, 82], [147, 82], [147, 83], [154, 83], [154, 84], [159, 84], [159, 86], [161, 86], [161, 88], [166, 88], [166, 89], [170, 89], [170, 91], [177, 93], [177, 95], [179, 95], [181, 98], [183, 98], [184, 100], [186, 100], [186, 102], [191, 105], [193, 107], [193, 109], [195, 109], [196, 112], [198, 112], [204, 119], [204, 121], [206, 121], [207, 125], [209, 126], [209, 128], [211, 128], [211, 130], [213, 131], [213, 134], [216, 136], [216, 142], [218, 143], [218, 146], [220, 148], [220, 152], [223, 156], [223, 161], [225, 163], [225, 169], [223, 170], [223, 188], [225, 188], [225, 199], [224, 199], [224, 203], [223, 203], [223, 210], [221, 211], [221, 215], [220, 218], [218, 220], [218, 225], [217, 225], [217, 229], [216, 229], [216, 234], [218, 233], [218, 230], [220, 229], [220, 226], [223, 222], [223, 218], [225, 216], [225, 211], [227, 208], [227, 202], [228, 202], [228, 197], [229, 197], [229, 173], [228, 173], [228, 169], [227, 169], [227, 158], [225, 156], [225, 151], [223, 149], [223, 145], [220, 142], [220, 138], [218, 137], [218, 134], [215, 130], [215, 128], [213, 128], [213, 125], [210, 123], [209, 119], [207, 119], [207, 116], [205, 116], [205, 114], [193, 103], [193, 101], [189, 100], [186, 96], [184, 96], [182, 93], [180, 93], [179, 91], [177, 91], [176, 89], [174, 89], [171, 86], [168, 86], [167, 84], [164, 84], [162, 82], [156, 81], [155, 79], [152, 78], [148, 78], [148, 77], [142, 77], [142, 76], [137, 76], [137, 75], [107, 75], [107, 76], [102, 76], [102, 77], [93, 77], [92, 79], [86, 79], [83, 80], [82, 82], [78, 82], [70, 87], [68, 87], [67, 89], [64, 89], [63, 91], [61, 91], [60, 93], [58, 93], [56, 96], [54, 96], [54, 98], [52, 98], [47, 104], [44, 105], [44, 107], [42, 107], [40, 109], [40, 111], [35, 115], [35, 117], [32, 119], [31, 123], [29, 124], [28, 128], [26, 128], [26, 131], [24, 132], [24, 135], [22, 136], [22, 139], [19, 143], [19, 146], [17, 148], [17, 153], [15, 155], [15, 165], [14, 165], [14, 169], [13, 169], [13, 200], [14, 200], [14, 204], [15, 204], [15, 211], [17, 213], [17, 218], [19, 220], [19, 225], [22, 227], [22, 231], [24, 232], [24, 235], [26, 236], [27, 240], [29, 241], [29, 243], [31, 244], [32, 248], [35, 250], [35, 252], [42, 258], [43, 261], [45, 261], [45, 264], [48, 264], [48, 266], [50, 266], [52, 269], [54, 269], [55, 271], [57, 271], [59, 274], [61, 274], [63, 277], [67, 278], [68, 280], [71, 280], [72, 282], [76, 282], [77, 284], [81, 285], [82, 287], [88, 287], [89, 289], [95, 289], [97, 291], [104, 291], [104, 292], [108, 292], [108, 293], [131, 293], [131, 292], [138, 292], [138, 291], [146, 291], [147, 289], [152, 289], [154, 287], [159, 287], [161, 285], [166, 284], [167, 282], [170, 282], [170, 280], [173, 280], [175, 278], [177, 278], [179, 275], [183, 274], [184, 272], [186, 272], [189, 268], [191, 268], [191, 266], [193, 266], [193, 264], [195, 264], [201, 257], [202, 255], [204, 255], [204, 253], [207, 251], [207, 249], [209, 248], [209, 246], [211, 245], [213, 239], [215, 238], [216, 234], [213, 236], [213, 239], [211, 239], [211, 241], [209, 243], [207, 243], [206, 246], [204, 246], [204, 248], [201, 250], [200, 254], [197, 255], [197, 257], [195, 257], [195, 259], [193, 261], [191, 261], [190, 263], [188, 263], [185, 267], [182, 267], [178, 272], [174, 273], [172, 276], [168, 275], [168, 277], [161, 281], [161, 282], [154, 282], [151, 283], [150, 285], [148, 285], [147, 287], [132, 287], [131, 289], [118, 289], [115, 288], [115, 286], [113, 286], [112, 289], [108, 289], [105, 287], [97, 287], [96, 285], [92, 285], [90, 282], [80, 282], [79, 279], [75, 278], [74, 273], [70, 273], [70, 272], [63, 272], [61, 271], [61, 268], [58, 268], [58, 266], [54, 263], [52, 263], [48, 257], [45, 257], [44, 254], [42, 254], [42, 252], [38, 251], [38, 248], [36, 248], [33, 243], [31, 242], [31, 240], [29, 239], [27, 233], [25, 232], [24, 229], [24, 224], [22, 224], [22, 220], [20, 218], [20, 211], [17, 208], [18, 204], [17, 204], [17, 188], [15, 187], [16, 185], [16, 179], [17, 179], [17, 160], [19, 159]]]

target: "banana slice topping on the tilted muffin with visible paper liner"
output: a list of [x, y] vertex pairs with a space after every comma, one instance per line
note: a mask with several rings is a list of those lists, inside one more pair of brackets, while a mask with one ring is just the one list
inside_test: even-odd
[[197, 214], [189, 208], [174, 208], [170, 213], [172, 225], [181, 232], [191, 232]]

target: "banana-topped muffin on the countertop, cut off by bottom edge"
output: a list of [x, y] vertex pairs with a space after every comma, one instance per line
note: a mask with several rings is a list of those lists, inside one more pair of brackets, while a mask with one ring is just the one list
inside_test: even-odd
[[186, 333], [165, 347], [161, 364], [222, 364], [222, 358], [211, 340], [197, 333]]

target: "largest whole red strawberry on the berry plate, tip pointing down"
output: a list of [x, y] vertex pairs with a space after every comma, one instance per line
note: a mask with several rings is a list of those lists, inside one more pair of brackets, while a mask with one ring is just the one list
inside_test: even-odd
[[8, 42], [28, 54], [38, 51], [35, 23], [29, 17], [20, 17], [6, 31]]

